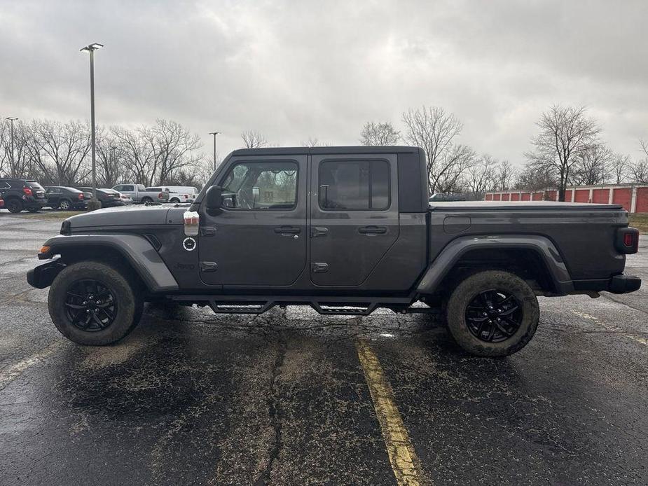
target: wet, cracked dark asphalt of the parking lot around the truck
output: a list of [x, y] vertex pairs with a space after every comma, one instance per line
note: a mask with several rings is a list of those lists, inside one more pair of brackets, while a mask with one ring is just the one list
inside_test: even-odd
[[[429, 316], [301, 307], [150, 305], [123, 342], [81, 347], [25, 281], [60, 222], [0, 211], [1, 485], [648, 483], [645, 286], [541, 298], [505, 359]], [[626, 272], [648, 279], [648, 237]]]

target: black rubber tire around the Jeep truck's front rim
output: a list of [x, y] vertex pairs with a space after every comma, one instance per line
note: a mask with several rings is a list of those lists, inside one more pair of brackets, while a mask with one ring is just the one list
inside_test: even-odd
[[[65, 305], [69, 287], [79, 280], [92, 279], [106, 286], [117, 303], [112, 324], [101, 331], [83, 331], [67, 316]], [[123, 272], [98, 261], [81, 261], [64, 268], [54, 279], [48, 295], [48, 310], [62, 335], [80, 345], [104, 346], [124, 338], [139, 323], [144, 304], [137, 289]]]

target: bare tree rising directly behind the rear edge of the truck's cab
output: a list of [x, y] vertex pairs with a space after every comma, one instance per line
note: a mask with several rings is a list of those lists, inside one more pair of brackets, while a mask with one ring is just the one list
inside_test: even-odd
[[461, 133], [462, 123], [438, 106], [410, 109], [403, 113], [403, 122], [406, 125], [404, 139], [422, 147], [427, 155], [430, 192], [455, 186], [475, 160], [474, 151], [454, 143], [455, 137]]

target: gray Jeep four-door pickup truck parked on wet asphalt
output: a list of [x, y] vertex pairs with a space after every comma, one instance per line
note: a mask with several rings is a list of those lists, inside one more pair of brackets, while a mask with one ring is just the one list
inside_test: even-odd
[[261, 313], [439, 312], [471, 354], [534, 335], [537, 296], [632, 292], [639, 233], [616, 204], [428, 201], [417, 147], [242, 149], [193, 204], [67, 218], [29, 284], [59, 331], [107, 345], [144, 302]]

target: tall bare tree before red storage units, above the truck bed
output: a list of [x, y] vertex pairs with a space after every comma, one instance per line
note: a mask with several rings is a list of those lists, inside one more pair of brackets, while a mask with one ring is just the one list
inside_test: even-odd
[[525, 154], [533, 165], [556, 173], [560, 201], [565, 200], [572, 167], [579, 155], [596, 142], [600, 132], [596, 121], [588, 118], [585, 111], [583, 106], [551, 106], [537, 123], [540, 132], [531, 141], [534, 150]]

